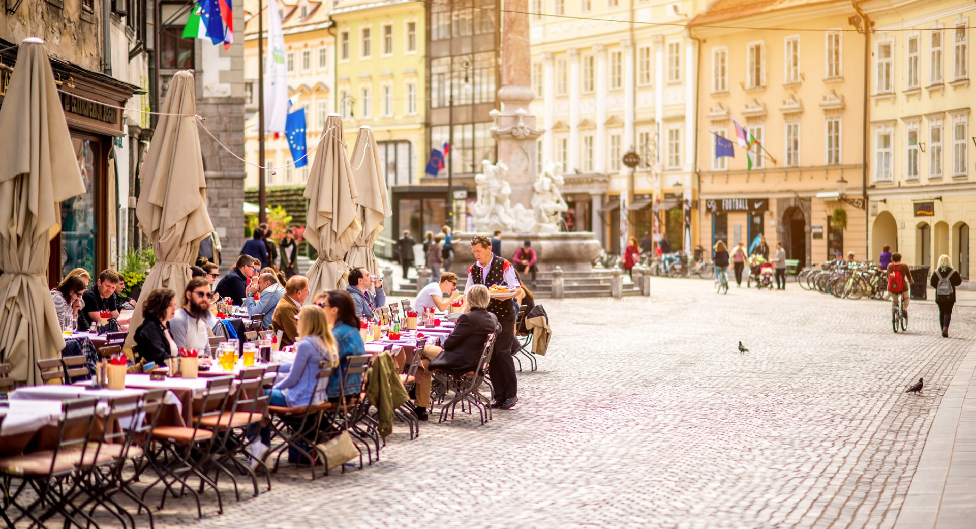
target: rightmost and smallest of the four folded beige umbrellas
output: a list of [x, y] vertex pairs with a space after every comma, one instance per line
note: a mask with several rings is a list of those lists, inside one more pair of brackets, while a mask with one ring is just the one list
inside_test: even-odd
[[356, 199], [357, 216], [362, 223], [362, 231], [356, 237], [346, 263], [349, 266], [365, 267], [373, 273], [380, 273], [380, 266], [373, 253], [373, 244], [383, 233], [386, 218], [393, 215], [389, 207], [389, 196], [386, 194], [386, 178], [384, 178], [383, 163], [380, 161], [380, 149], [376, 145], [373, 128], [368, 125], [359, 127], [356, 144], [352, 147], [352, 163], [358, 164], [352, 169], [352, 176], [356, 180], [359, 198]]

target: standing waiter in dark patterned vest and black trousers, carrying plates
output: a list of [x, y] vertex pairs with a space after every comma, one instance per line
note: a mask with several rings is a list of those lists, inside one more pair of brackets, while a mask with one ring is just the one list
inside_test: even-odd
[[[503, 285], [508, 290], [519, 287], [515, 266], [505, 259], [492, 254], [491, 239], [486, 235], [471, 237], [471, 251], [474, 252], [474, 265], [468, 268], [468, 290], [474, 285]], [[511, 357], [511, 341], [515, 339], [515, 302], [512, 294], [508, 298], [492, 298], [488, 302], [488, 311], [495, 314], [502, 325], [502, 332], [495, 337], [495, 350], [488, 364], [491, 375], [492, 396], [495, 402], [492, 408], [508, 410], [518, 402], [518, 381], [515, 377], [515, 360]]]

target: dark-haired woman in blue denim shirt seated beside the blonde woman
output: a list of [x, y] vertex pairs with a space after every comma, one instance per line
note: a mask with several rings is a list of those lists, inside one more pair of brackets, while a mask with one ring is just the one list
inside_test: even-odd
[[[339, 348], [340, 368], [332, 374], [329, 381], [329, 400], [339, 402], [339, 378], [345, 376], [346, 356], [366, 354], [366, 345], [359, 334], [359, 316], [356, 315], [356, 305], [345, 290], [331, 290], [322, 292], [315, 297], [315, 305], [325, 310], [325, 318], [332, 327], [332, 336], [336, 338]], [[352, 375], [343, 381], [346, 395], [358, 395], [362, 389], [362, 375]]]

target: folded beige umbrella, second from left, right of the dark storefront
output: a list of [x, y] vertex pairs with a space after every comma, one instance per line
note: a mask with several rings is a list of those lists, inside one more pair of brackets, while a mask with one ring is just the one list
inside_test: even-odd
[[[142, 165], [136, 217], [156, 253], [156, 264], [142, 284], [142, 296], [168, 288], [176, 292], [180, 305], [183, 289], [192, 277], [189, 263], [196, 256], [200, 241], [214, 230], [207, 211], [207, 180], [190, 72], [180, 71], [173, 76], [160, 111], [180, 115], [160, 116]], [[129, 323], [127, 344], [132, 344], [140, 323], [142, 309], [137, 307]]]

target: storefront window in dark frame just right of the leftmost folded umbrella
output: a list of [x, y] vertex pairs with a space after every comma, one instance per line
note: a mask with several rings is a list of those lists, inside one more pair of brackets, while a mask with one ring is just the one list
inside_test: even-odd
[[61, 202], [61, 277], [74, 268], [85, 268], [96, 277], [95, 236], [98, 222], [95, 215], [99, 189], [99, 143], [73, 138], [74, 156], [85, 181], [85, 193]]

